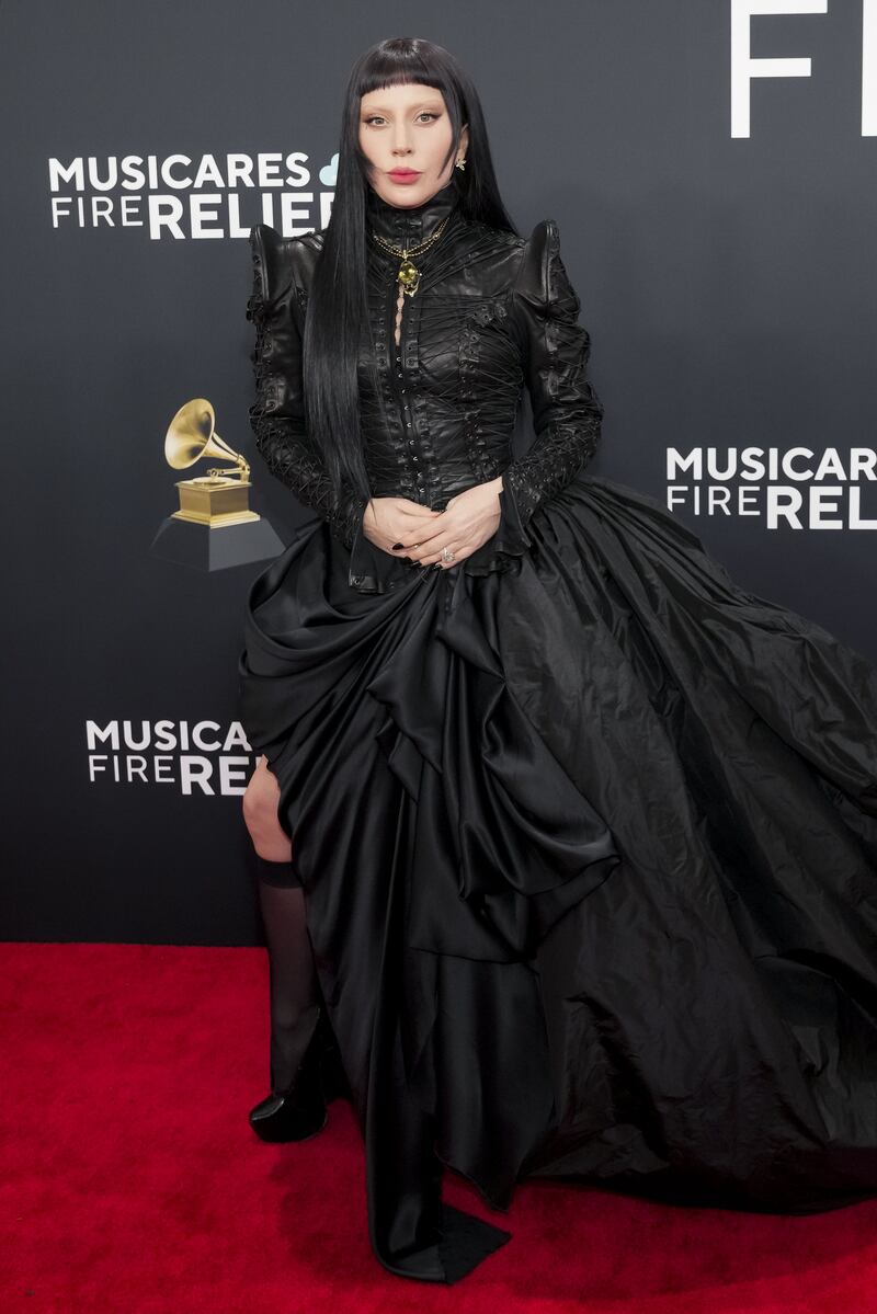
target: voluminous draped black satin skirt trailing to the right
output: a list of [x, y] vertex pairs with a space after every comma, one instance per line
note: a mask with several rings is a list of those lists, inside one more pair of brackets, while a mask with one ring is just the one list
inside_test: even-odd
[[781, 1213], [877, 1194], [877, 669], [580, 474], [511, 569], [362, 593], [322, 520], [252, 585], [369, 1236], [456, 1281], [526, 1177]]

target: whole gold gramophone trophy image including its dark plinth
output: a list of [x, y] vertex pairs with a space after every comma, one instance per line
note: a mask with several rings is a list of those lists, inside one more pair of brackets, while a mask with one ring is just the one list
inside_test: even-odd
[[196, 570], [227, 570], [276, 557], [281, 540], [264, 516], [250, 510], [250, 465], [217, 434], [210, 402], [193, 397], [168, 426], [164, 459], [172, 469], [184, 470], [210, 456], [230, 463], [231, 469], [210, 468], [178, 481], [179, 511], [159, 527], [153, 553]]

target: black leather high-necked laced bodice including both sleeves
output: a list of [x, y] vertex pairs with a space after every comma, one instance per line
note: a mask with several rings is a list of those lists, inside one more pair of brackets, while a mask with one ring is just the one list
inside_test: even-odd
[[[369, 240], [368, 335], [360, 355], [366, 468], [373, 497], [406, 497], [434, 510], [463, 489], [502, 476], [497, 532], [462, 565], [505, 569], [530, 544], [526, 526], [593, 455], [602, 406], [586, 380], [590, 339], [560, 259], [557, 225], [529, 239], [463, 217], [456, 179], [413, 209], [368, 194], [369, 229], [414, 246], [447, 226], [415, 258], [419, 285], [402, 306], [394, 340], [400, 259]], [[404, 562], [362, 532], [367, 499], [335, 489], [304, 427], [301, 340], [322, 233], [283, 238], [251, 230], [256, 398], [250, 423], [270, 469], [351, 549], [351, 586], [383, 591]], [[377, 367], [375, 389], [368, 356]], [[513, 459], [523, 388], [535, 440]], [[408, 564], [410, 570], [410, 564]]]

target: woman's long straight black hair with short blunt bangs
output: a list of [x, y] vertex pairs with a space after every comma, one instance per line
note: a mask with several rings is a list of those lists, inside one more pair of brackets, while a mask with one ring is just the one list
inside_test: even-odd
[[[308, 434], [335, 489], [352, 487], [362, 497], [371, 497], [358, 371], [368, 315], [366, 221], [371, 162], [359, 145], [360, 101], [372, 91], [400, 83], [423, 83], [442, 92], [452, 129], [442, 170], [454, 158], [468, 124], [465, 171], [455, 175], [463, 218], [518, 235], [500, 197], [479, 93], [454, 55], [418, 37], [392, 37], [360, 55], [347, 83], [335, 197], [308, 298], [302, 368]], [[371, 369], [373, 374], [373, 361]]]

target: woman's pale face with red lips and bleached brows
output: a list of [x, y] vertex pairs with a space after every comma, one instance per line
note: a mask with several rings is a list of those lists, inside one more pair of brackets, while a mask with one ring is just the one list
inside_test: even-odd
[[[469, 130], [463, 127], [458, 156], [465, 158]], [[456, 156], [442, 168], [451, 145], [444, 97], [423, 83], [381, 87], [360, 99], [359, 145], [369, 162], [377, 194], [400, 208], [422, 205], [450, 183]], [[405, 181], [394, 170], [408, 171]], [[413, 175], [413, 176], [410, 176]]]

